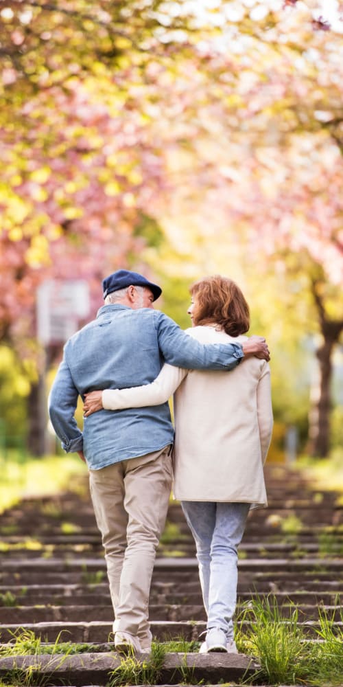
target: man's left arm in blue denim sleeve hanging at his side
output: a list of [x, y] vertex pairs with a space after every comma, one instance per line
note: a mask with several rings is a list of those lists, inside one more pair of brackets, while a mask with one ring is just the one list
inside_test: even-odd
[[82, 431], [78, 428], [74, 417], [78, 395], [69, 366], [64, 358], [51, 387], [48, 407], [51, 424], [61, 441], [62, 449], [67, 453], [83, 451]]

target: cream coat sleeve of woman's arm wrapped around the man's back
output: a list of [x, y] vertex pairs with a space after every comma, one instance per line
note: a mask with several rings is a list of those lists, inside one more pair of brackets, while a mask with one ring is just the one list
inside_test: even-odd
[[102, 405], [106, 410], [161, 405], [174, 394], [186, 374], [187, 370], [184, 368], [165, 364], [151, 384], [128, 389], [105, 389], [102, 392]]

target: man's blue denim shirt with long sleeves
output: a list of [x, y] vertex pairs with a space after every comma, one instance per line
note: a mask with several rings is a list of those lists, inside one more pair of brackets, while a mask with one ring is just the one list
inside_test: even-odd
[[103, 409], [84, 418], [82, 433], [74, 417], [78, 396], [148, 384], [164, 362], [187, 369], [231, 370], [242, 357], [239, 344], [199, 343], [161, 311], [103, 306], [64, 346], [49, 395], [51, 423], [64, 451], [84, 451], [93, 470], [158, 451], [174, 440], [168, 403]]

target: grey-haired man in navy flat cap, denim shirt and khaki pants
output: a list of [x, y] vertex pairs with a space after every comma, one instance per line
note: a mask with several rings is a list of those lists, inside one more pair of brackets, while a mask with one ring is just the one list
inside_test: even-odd
[[65, 451], [86, 460], [91, 497], [115, 611], [117, 651], [150, 651], [150, 584], [171, 490], [174, 429], [167, 403], [102, 410], [75, 422], [78, 396], [153, 381], [164, 361], [188, 369], [231, 370], [244, 356], [269, 359], [262, 337], [202, 345], [154, 310], [161, 295], [143, 275], [119, 270], [103, 280], [105, 304], [73, 335], [49, 396], [49, 414]]

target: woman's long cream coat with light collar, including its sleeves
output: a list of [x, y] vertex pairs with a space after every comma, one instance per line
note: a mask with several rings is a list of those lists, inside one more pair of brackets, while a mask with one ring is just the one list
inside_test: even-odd
[[[215, 326], [187, 330], [201, 343], [243, 343]], [[266, 506], [263, 464], [272, 436], [270, 368], [255, 357], [234, 370], [164, 365], [152, 384], [105, 390], [106, 409], [165, 403], [174, 394], [174, 497]]]

